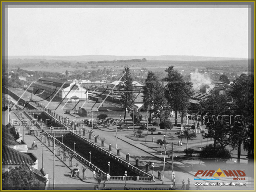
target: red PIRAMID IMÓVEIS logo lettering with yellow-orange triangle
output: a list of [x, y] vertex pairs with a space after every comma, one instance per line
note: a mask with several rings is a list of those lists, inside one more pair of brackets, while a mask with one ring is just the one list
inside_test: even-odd
[[[245, 177], [246, 174], [242, 170], [223, 170], [219, 168], [216, 172], [215, 170], [198, 170], [194, 177], [201, 176], [201, 177]], [[245, 178], [239, 179], [245, 180]]]

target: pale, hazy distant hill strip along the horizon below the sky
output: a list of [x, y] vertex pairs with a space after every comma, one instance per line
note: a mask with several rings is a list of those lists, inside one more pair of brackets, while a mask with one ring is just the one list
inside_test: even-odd
[[69, 61], [100, 61], [100, 60], [169, 60], [169, 61], [217, 61], [217, 60], [247, 60], [246, 58], [230, 57], [201, 57], [187, 55], [160, 55], [160, 56], [115, 56], [115, 55], [81, 55], [81, 56], [8, 56], [8, 59], [42, 59], [42, 60], [69, 60]]

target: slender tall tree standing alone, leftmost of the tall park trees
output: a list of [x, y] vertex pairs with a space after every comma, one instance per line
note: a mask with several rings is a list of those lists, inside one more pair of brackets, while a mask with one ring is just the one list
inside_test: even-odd
[[117, 86], [118, 90], [124, 91], [121, 94], [121, 103], [123, 105], [124, 111], [124, 119], [126, 117], [126, 110], [130, 110], [130, 106], [132, 105], [132, 102], [134, 100], [134, 95], [132, 93], [133, 86], [132, 86], [132, 75], [130, 68], [126, 66], [123, 71], [124, 76], [122, 77], [120, 84]]

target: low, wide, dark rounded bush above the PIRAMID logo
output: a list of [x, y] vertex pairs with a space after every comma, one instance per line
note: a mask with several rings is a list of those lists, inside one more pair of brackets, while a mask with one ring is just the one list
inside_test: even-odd
[[215, 162], [226, 162], [227, 160], [231, 159], [231, 152], [221, 147], [220, 145], [207, 145], [202, 148], [202, 150], [199, 152], [200, 158], [204, 162], [208, 161], [215, 161]]

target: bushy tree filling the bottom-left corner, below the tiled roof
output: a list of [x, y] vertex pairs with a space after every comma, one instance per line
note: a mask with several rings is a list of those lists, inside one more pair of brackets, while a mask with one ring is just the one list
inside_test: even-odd
[[3, 173], [2, 184], [4, 190], [37, 190], [40, 188], [40, 181], [26, 165], [10, 167], [9, 171]]

